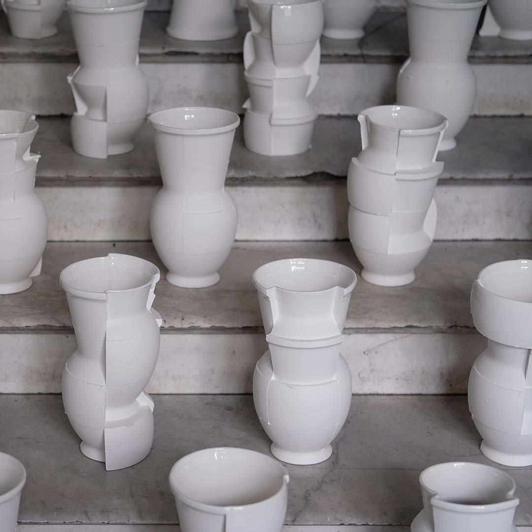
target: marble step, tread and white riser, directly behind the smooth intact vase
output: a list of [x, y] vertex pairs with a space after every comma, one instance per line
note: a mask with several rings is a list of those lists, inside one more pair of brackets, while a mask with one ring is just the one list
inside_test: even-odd
[[[477, 117], [458, 147], [441, 153], [436, 238], [531, 239], [532, 118]], [[134, 152], [107, 160], [72, 151], [69, 120], [41, 118], [37, 191], [50, 240], [149, 240], [149, 209], [161, 187], [146, 123]], [[313, 147], [294, 157], [248, 151], [237, 130], [228, 189], [238, 206], [237, 240], [346, 239], [347, 168], [360, 152], [354, 117], [321, 118]]]

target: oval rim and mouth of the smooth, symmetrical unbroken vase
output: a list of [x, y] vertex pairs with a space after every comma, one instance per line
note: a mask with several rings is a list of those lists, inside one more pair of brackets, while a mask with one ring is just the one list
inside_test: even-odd
[[216, 135], [236, 129], [238, 114], [218, 107], [170, 107], [148, 117], [156, 131], [175, 135]]

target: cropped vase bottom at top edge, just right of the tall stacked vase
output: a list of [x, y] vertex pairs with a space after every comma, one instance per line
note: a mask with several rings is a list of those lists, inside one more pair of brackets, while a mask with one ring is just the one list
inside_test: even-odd
[[375, 7], [375, 0], [323, 0], [323, 37], [361, 39]]

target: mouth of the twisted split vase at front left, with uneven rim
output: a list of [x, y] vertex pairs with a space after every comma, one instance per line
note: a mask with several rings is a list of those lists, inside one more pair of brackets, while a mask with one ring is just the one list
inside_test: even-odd
[[159, 268], [151, 262], [110, 253], [70, 264], [61, 272], [60, 282], [66, 292], [105, 295], [150, 286], [159, 275]]

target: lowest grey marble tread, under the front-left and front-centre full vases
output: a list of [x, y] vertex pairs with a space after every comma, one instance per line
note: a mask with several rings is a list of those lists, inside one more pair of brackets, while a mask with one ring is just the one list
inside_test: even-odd
[[[0, 449], [16, 456], [28, 471], [21, 524], [43, 523], [39, 532], [48, 530], [44, 523], [72, 523], [73, 530], [114, 523], [177, 525], [168, 473], [181, 456], [215, 446], [269, 452], [270, 440], [251, 395], [156, 395], [154, 401], [151, 453], [134, 467], [106, 472], [102, 463], [80, 453], [61, 396], [0, 396]], [[320, 532], [384, 532], [388, 529], [379, 527], [408, 527], [422, 507], [419, 473], [448, 461], [491, 464], [479, 444], [464, 396], [354, 396], [331, 458], [311, 466], [288, 465], [285, 522], [301, 528], [287, 530], [322, 526]], [[530, 526], [530, 468], [500, 469], [508, 470], [517, 484], [516, 525]]]

